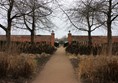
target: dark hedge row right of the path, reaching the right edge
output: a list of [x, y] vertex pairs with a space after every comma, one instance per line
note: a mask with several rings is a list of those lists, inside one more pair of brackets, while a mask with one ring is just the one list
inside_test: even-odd
[[[96, 45], [89, 47], [87, 45], [81, 45], [78, 42], [72, 42], [70, 45], [66, 47], [66, 52], [69, 52], [71, 54], [80, 54], [80, 55], [100, 55], [102, 53], [106, 52], [106, 44], [103, 45]], [[118, 54], [118, 43], [113, 44], [112, 54], [117, 55]]]

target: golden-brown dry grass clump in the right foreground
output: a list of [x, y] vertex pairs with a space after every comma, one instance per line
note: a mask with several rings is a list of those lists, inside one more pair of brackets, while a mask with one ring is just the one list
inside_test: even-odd
[[78, 70], [80, 79], [90, 83], [117, 83], [118, 57], [81, 56]]

